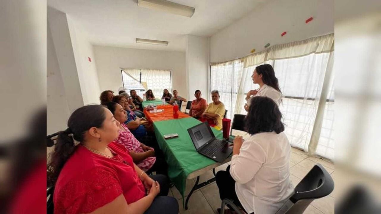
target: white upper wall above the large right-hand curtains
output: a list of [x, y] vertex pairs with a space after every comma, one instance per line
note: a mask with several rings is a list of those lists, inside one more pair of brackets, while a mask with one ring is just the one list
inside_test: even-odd
[[[334, 32], [333, 0], [274, 0], [219, 31], [210, 39], [210, 61], [224, 62], [271, 45]], [[313, 16], [314, 20], [305, 23]], [[282, 32], [287, 31], [283, 37]]]

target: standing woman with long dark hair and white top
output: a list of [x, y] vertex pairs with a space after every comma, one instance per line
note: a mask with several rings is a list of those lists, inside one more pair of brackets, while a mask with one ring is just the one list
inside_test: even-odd
[[282, 91], [280, 91], [278, 78], [275, 77], [274, 69], [270, 64], [259, 65], [251, 75], [254, 84], [259, 85], [259, 89], [250, 90], [246, 95], [245, 110], [248, 111], [250, 99], [252, 97], [270, 97], [277, 105], [282, 102]]

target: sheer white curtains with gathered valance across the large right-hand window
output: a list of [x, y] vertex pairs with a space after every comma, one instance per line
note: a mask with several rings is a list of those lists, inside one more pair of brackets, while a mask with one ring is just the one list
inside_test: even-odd
[[[215, 82], [213, 78], [219, 77], [213, 75], [213, 71], [225, 66], [224, 72], [233, 75], [237, 72], [226, 65], [232, 62], [243, 64], [239, 70], [240, 74], [235, 76], [235, 79], [239, 80], [236, 83], [239, 84], [238, 88], [232, 90], [231, 100], [226, 101], [235, 104], [235, 107], [230, 107], [234, 113], [246, 114], [243, 109], [246, 93], [259, 88], [251, 80], [255, 67], [271, 64], [283, 93], [280, 110], [286, 125], [285, 133], [291, 145], [308, 151], [311, 155], [317, 154], [333, 159], [333, 43], [334, 35], [329, 34], [275, 45], [230, 62], [212, 63], [211, 86]], [[224, 84], [234, 85], [235, 81], [230, 83], [228, 78], [219, 78], [221, 80], [216, 81], [216, 84], [220, 84], [221, 88], [224, 88]], [[229, 116], [232, 118], [233, 114]]]

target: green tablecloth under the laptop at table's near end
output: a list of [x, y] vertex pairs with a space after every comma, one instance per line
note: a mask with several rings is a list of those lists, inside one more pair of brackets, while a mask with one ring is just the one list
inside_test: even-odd
[[[168, 163], [168, 176], [173, 184], [184, 196], [187, 176], [194, 171], [216, 163], [199, 154], [188, 134], [187, 129], [201, 123], [195, 118], [182, 118], [154, 122], [154, 130], [157, 142], [165, 154]], [[222, 131], [212, 128], [216, 138], [223, 139]], [[179, 137], [164, 139], [164, 134], [177, 133]]]

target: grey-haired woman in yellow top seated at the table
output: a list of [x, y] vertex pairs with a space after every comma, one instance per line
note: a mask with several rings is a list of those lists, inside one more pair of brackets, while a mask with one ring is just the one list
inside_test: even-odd
[[225, 105], [219, 101], [219, 93], [217, 90], [213, 90], [211, 92], [212, 101], [205, 112], [202, 114], [200, 121], [205, 122], [208, 121], [211, 127], [214, 127], [217, 130], [222, 129], [222, 118], [224, 118], [225, 114]]

